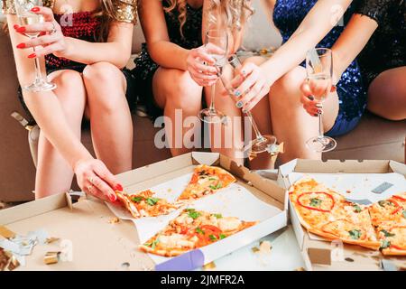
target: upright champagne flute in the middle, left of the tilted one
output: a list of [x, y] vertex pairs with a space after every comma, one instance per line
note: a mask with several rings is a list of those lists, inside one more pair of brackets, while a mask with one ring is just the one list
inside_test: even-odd
[[[208, 47], [208, 53], [216, 60], [215, 67], [217, 68], [217, 75], [220, 76], [223, 67], [226, 65], [228, 33], [226, 30], [209, 29], [206, 33], [205, 45]], [[222, 123], [226, 118], [226, 116], [215, 107], [216, 85], [217, 82], [211, 87], [210, 106], [202, 109], [198, 114], [198, 118], [208, 124]]]

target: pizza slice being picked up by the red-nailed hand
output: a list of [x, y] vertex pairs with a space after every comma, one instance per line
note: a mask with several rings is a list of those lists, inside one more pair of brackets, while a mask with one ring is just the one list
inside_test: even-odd
[[167, 215], [179, 208], [179, 206], [173, 205], [165, 199], [153, 197], [154, 193], [150, 190], [135, 194], [115, 191], [115, 194], [117, 195], [117, 199], [120, 200], [133, 217], [137, 219]]

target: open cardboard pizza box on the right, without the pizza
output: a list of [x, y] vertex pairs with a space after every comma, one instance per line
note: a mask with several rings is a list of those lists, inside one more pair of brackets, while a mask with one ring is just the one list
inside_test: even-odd
[[[351, 200], [383, 200], [406, 187], [406, 165], [393, 161], [298, 159], [281, 165], [278, 182], [289, 190], [294, 182], [306, 176]], [[385, 187], [384, 182], [392, 186], [382, 193], [371, 192], [376, 187]], [[309, 233], [301, 226], [290, 201], [289, 215], [307, 270], [402, 270], [406, 267], [406, 256], [383, 256], [379, 251], [328, 241]]]

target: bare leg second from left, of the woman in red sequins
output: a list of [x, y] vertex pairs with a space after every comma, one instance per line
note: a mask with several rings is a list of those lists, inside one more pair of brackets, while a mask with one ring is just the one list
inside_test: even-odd
[[114, 65], [98, 62], [83, 70], [83, 79], [97, 158], [115, 174], [131, 170], [133, 121], [125, 99], [125, 76]]

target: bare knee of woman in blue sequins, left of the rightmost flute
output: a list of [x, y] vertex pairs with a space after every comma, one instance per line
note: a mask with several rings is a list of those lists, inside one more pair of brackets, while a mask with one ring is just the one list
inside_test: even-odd
[[300, 105], [300, 85], [305, 79], [306, 71], [303, 68], [289, 71], [272, 85], [271, 100], [283, 106]]

